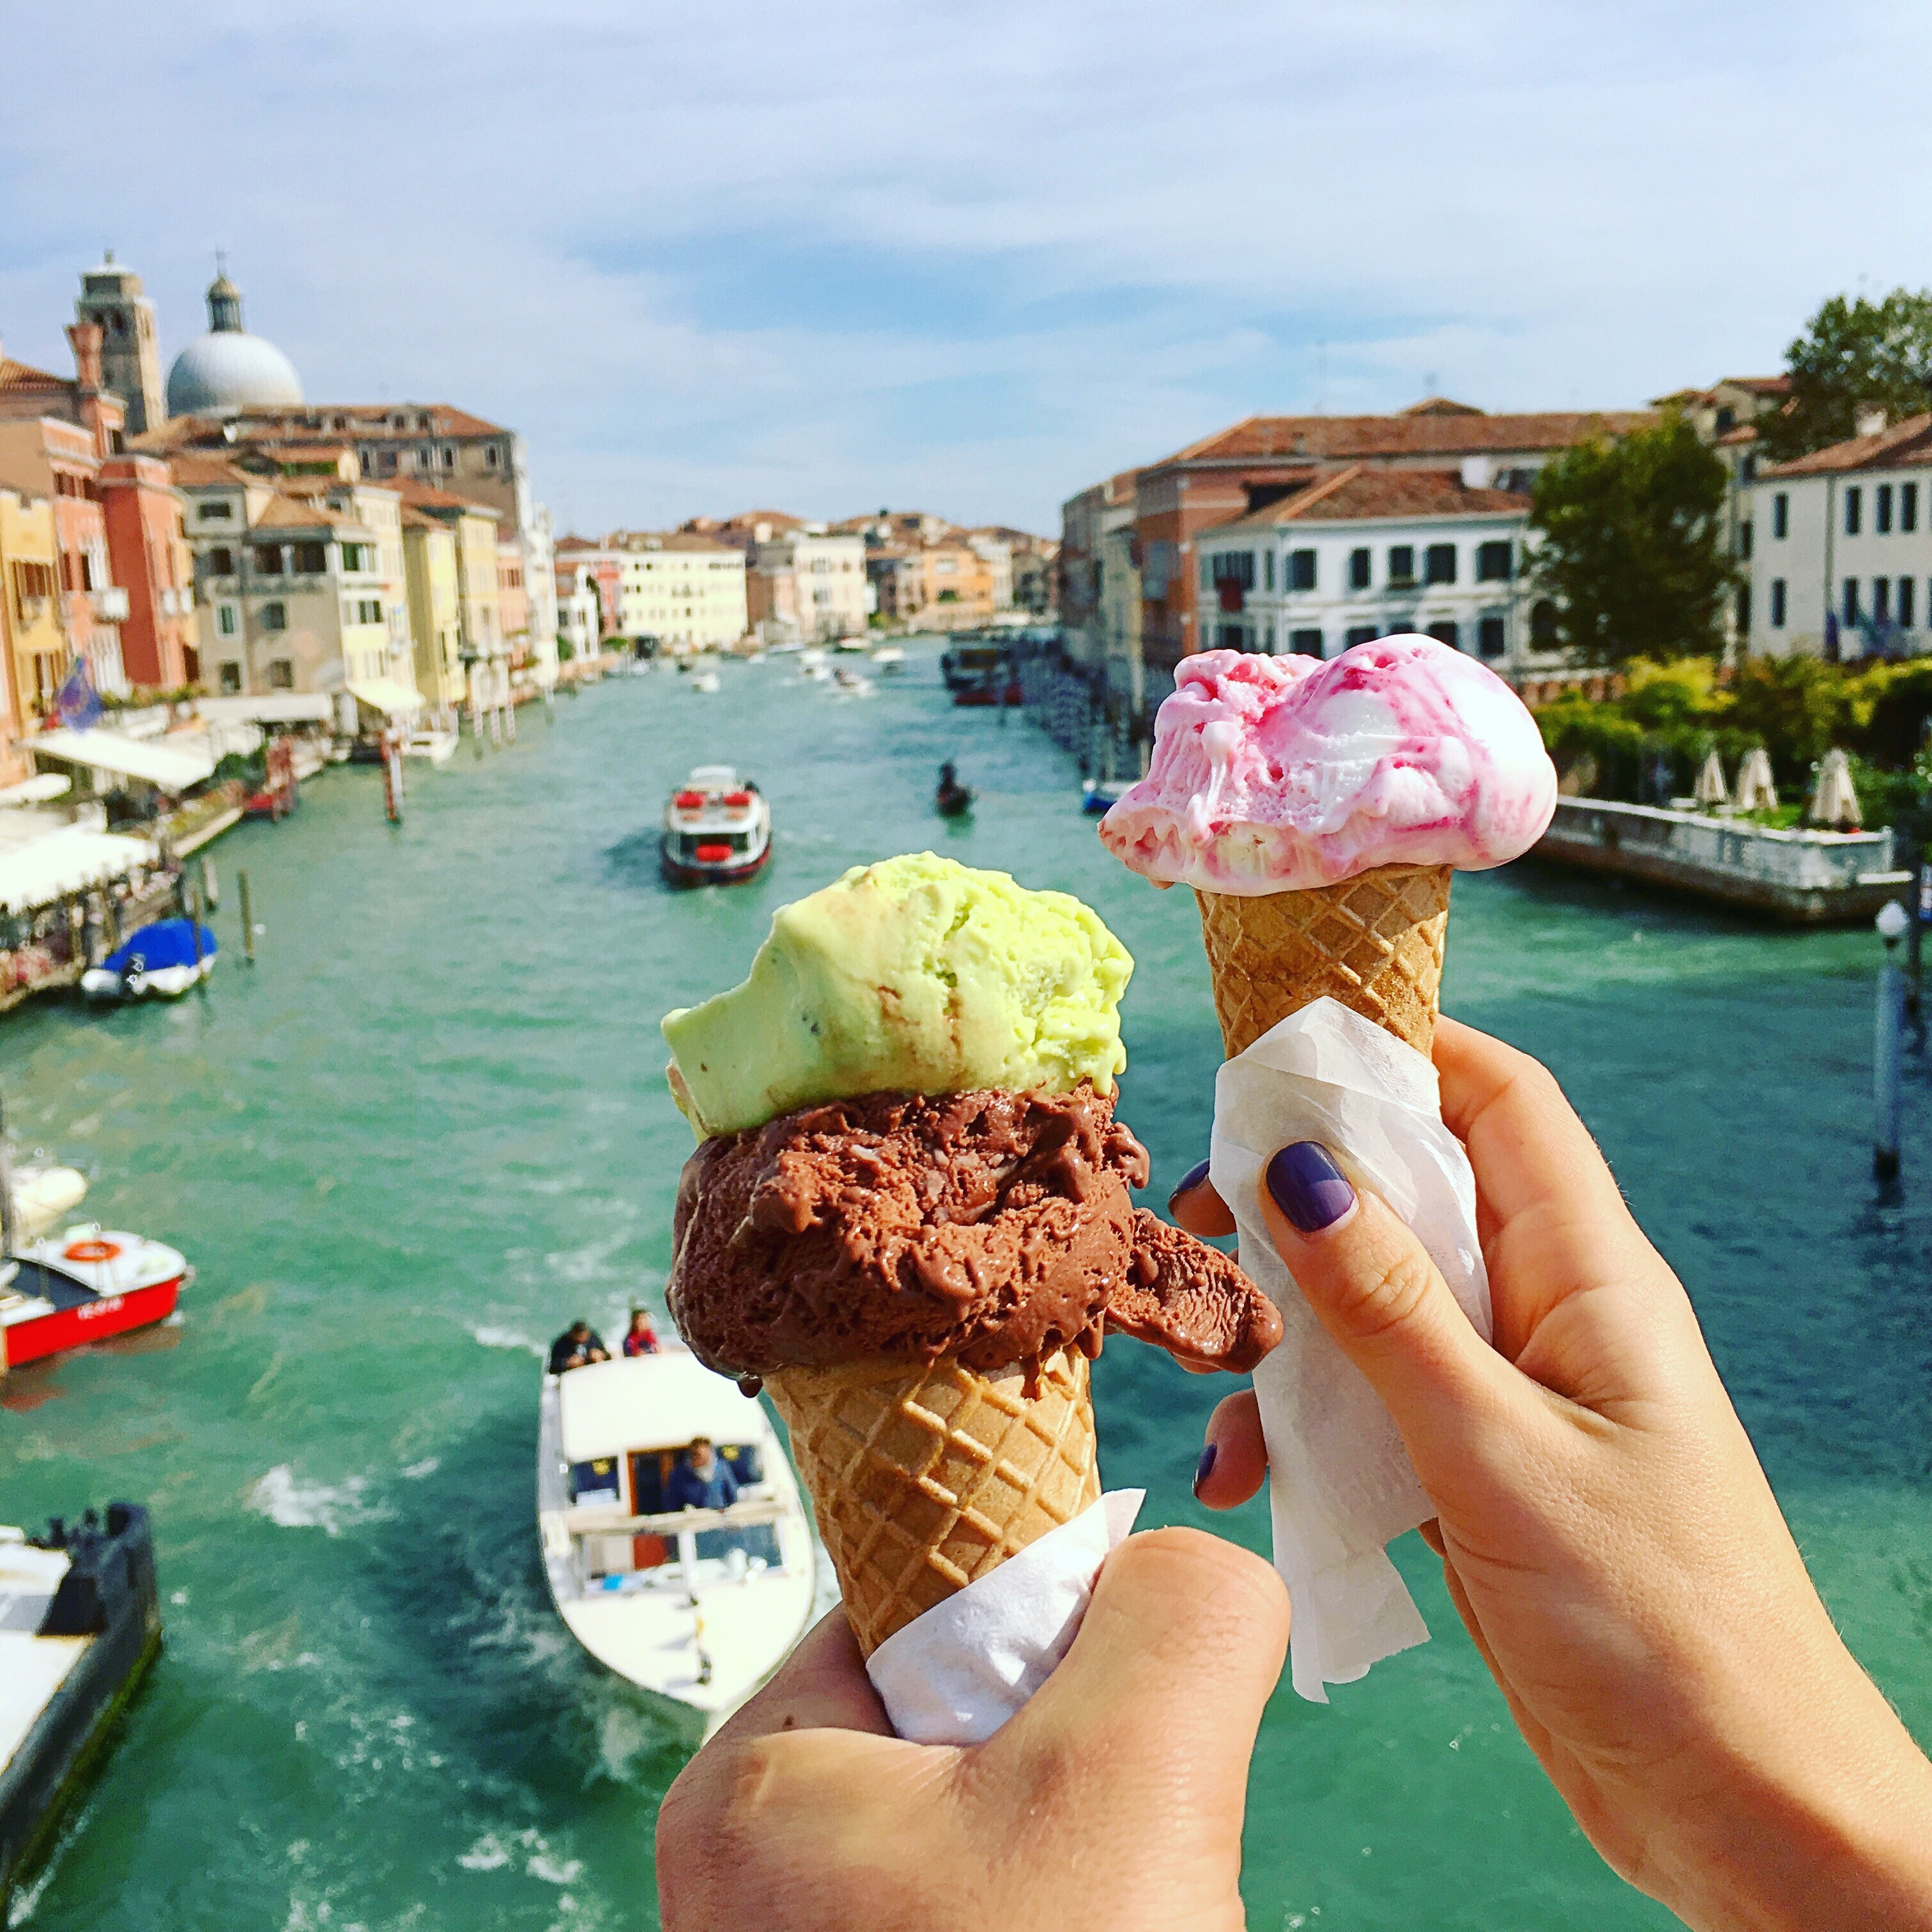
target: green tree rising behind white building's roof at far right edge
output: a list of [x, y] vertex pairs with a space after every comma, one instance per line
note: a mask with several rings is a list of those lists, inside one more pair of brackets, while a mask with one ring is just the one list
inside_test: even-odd
[[1859, 410], [1897, 423], [1932, 408], [1932, 290], [1895, 288], [1882, 301], [1833, 296], [1789, 350], [1789, 406], [1756, 421], [1758, 446], [1787, 462], [1859, 433]]

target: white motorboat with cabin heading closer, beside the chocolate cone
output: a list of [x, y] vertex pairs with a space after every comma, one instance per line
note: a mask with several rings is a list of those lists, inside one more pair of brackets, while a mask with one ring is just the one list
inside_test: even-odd
[[[734, 1472], [738, 1501], [667, 1511], [665, 1484], [697, 1435]], [[692, 1743], [811, 1619], [811, 1528], [779, 1434], [684, 1349], [543, 1378], [537, 1524], [570, 1633]]]

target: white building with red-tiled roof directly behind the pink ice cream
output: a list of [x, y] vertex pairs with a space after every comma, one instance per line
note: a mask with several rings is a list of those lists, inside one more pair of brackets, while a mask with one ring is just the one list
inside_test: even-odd
[[[1354, 464], [1196, 537], [1202, 643], [1335, 657], [1426, 632], [1495, 668], [1532, 657], [1522, 560], [1530, 498], [1490, 489], [1484, 458], [1457, 469]], [[1538, 611], [1551, 636], [1553, 611]]]

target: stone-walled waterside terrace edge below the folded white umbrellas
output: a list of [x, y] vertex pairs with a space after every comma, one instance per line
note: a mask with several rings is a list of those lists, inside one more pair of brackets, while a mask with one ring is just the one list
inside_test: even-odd
[[1913, 881], [1893, 860], [1891, 831], [1772, 831], [1607, 798], [1559, 798], [1534, 856], [1555, 866], [1687, 893], [1787, 925], [1872, 918]]

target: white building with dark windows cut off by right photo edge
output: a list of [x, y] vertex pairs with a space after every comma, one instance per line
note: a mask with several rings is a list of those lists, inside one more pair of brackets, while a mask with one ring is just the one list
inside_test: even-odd
[[1760, 469], [1743, 526], [1764, 657], [1932, 649], [1932, 415]]

